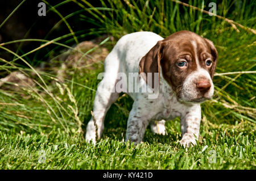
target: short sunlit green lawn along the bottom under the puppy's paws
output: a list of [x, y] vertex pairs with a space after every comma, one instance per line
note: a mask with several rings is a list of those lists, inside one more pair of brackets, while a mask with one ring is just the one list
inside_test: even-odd
[[[107, 124], [109, 125], [109, 124]], [[110, 124], [111, 125], [111, 124]], [[107, 126], [108, 129], [110, 125]], [[133, 146], [114, 129], [96, 146], [81, 135], [53, 129], [51, 134], [0, 133], [1, 169], [255, 169], [255, 135], [236, 129], [210, 129], [212, 133], [188, 151], [177, 140], [178, 121], [168, 123], [168, 136], [147, 130], [143, 144]], [[205, 132], [203, 132], [205, 133]], [[208, 146], [203, 152], [203, 148]], [[214, 150], [213, 152], [211, 152]], [[214, 158], [216, 153], [216, 158]], [[43, 158], [45, 163], [43, 162]]]

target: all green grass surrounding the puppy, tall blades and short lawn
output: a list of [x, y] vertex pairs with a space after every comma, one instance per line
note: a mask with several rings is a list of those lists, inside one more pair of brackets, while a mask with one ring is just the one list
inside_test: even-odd
[[[242, 1], [240, 7], [235, 1], [217, 2], [218, 15], [243, 26], [236, 24], [236, 28], [223, 19], [172, 1], [126, 1], [130, 5], [125, 1], [101, 1], [101, 7], [93, 7], [84, 0], [59, 5], [44, 2], [49, 7], [47, 13], [59, 15], [59, 23], [64, 23], [70, 33], [52, 41], [46, 37], [0, 44], [1, 50], [14, 56], [13, 60], [0, 58], [1, 71], [19, 70], [36, 84], [18, 91], [0, 91], [0, 169], [256, 169], [256, 36], [248, 29], [256, 29], [254, 1]], [[209, 10], [209, 2], [188, 1], [188, 4]], [[76, 3], [79, 10], [61, 15], [58, 8], [69, 3]], [[81, 23], [94, 23], [97, 28], [73, 32], [69, 22], [72, 16], [80, 18]], [[54, 30], [53, 27], [49, 34]], [[40, 71], [31, 66], [46, 60], [46, 64], [51, 60], [59, 66], [56, 57], [60, 50], [72, 49], [72, 44], [88, 35], [114, 36], [114, 41], [106, 39], [100, 44], [111, 50], [126, 33], [154, 31], [166, 37], [179, 30], [207, 37], [219, 54], [213, 79], [214, 98], [202, 104], [200, 138], [197, 146], [188, 150], [178, 142], [181, 139], [179, 118], [167, 122], [167, 136], [154, 135], [148, 128], [142, 144], [131, 146], [123, 142], [133, 104], [126, 94], [107, 113], [104, 134], [98, 144], [86, 143], [82, 131], [91, 117], [99, 82], [97, 75], [104, 70], [104, 60], [89, 65], [92, 69], [69, 70], [64, 82], [59, 81], [51, 69]], [[7, 44], [23, 41], [39, 41], [42, 45], [29, 52], [21, 48], [11, 52], [5, 48]], [[39, 57], [42, 49], [48, 53]], [[45, 151], [46, 163], [38, 161], [41, 150]], [[212, 163], [211, 153], [216, 153], [216, 163]]]

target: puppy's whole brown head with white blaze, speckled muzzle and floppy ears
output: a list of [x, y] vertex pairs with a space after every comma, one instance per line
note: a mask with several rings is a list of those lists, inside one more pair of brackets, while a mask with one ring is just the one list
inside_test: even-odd
[[[154, 73], [160, 74], [161, 67], [163, 78], [176, 92], [177, 99], [200, 103], [213, 96], [217, 58], [212, 41], [190, 31], [179, 31], [158, 41], [142, 57], [139, 74], [152, 73], [154, 80]], [[154, 86], [158, 85], [152, 83]]]

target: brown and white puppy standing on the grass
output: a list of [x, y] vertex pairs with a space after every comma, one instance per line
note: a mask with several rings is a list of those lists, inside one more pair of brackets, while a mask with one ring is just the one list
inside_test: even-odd
[[166, 39], [152, 32], [123, 36], [106, 57], [86, 140], [96, 142], [96, 131], [101, 137], [106, 112], [122, 91], [134, 99], [126, 140], [141, 142], [149, 123], [154, 133], [166, 134], [164, 120], [179, 116], [181, 145], [195, 145], [200, 103], [213, 96], [217, 58], [212, 41], [190, 31], [176, 32]]

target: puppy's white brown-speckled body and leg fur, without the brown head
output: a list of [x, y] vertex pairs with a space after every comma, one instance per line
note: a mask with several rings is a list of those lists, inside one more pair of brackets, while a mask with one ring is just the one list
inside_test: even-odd
[[[131, 33], [123, 36], [117, 42], [109, 56], [106, 57], [104, 79], [98, 85], [93, 107], [99, 138], [104, 129], [106, 112], [111, 104], [117, 100], [119, 95], [118, 92], [112, 92], [117, 83], [117, 74], [125, 73], [128, 77], [129, 73], [138, 73], [141, 58], [159, 40], [163, 40], [163, 38], [152, 32]], [[128, 92], [127, 90], [128, 94], [133, 98], [134, 103], [127, 122], [126, 141], [130, 140], [135, 144], [141, 142], [145, 130], [150, 123], [151, 130], [154, 133], [166, 134], [164, 120], [180, 117], [182, 133], [180, 144], [183, 146], [195, 145], [196, 139], [199, 137], [201, 120], [200, 103], [178, 101], [176, 92], [172, 90], [171, 86], [163, 78], [162, 69], [160, 72], [160, 85], [157, 98], [148, 98], [148, 92]], [[129, 81], [131, 80], [128, 80], [127, 85]], [[144, 79], [139, 79], [135, 83], [141, 83], [142, 87], [147, 86]], [[184, 89], [189, 89], [189, 85], [184, 87]], [[155, 120], [160, 121], [159, 125], [155, 123]], [[88, 123], [86, 140], [96, 142], [96, 127], [93, 119]]]

